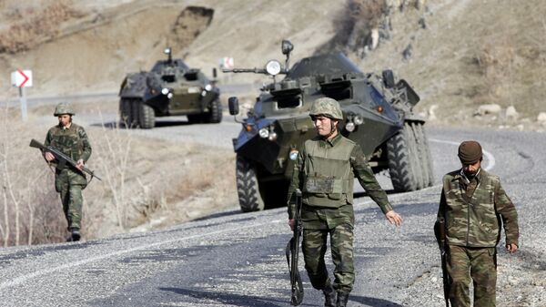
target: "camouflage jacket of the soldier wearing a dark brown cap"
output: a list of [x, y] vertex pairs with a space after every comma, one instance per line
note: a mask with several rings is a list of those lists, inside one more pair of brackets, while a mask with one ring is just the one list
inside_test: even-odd
[[466, 179], [461, 169], [446, 174], [438, 210], [438, 220], [446, 220], [446, 239], [450, 245], [494, 247], [501, 238], [519, 245], [518, 213], [499, 177], [484, 169]]

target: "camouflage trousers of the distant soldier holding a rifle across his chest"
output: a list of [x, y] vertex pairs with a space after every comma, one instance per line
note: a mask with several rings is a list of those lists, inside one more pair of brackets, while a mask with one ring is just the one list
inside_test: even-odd
[[82, 221], [82, 189], [86, 189], [86, 177], [72, 169], [56, 171], [55, 189], [61, 196], [68, 230], [80, 229]]

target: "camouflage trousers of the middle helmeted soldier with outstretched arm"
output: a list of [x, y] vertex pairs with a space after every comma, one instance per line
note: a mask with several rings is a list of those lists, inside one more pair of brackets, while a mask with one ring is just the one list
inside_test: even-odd
[[[302, 212], [305, 220], [301, 250], [309, 280], [313, 288], [317, 290], [324, 289], [330, 282], [329, 272], [324, 261], [329, 237], [332, 261], [335, 266], [334, 289], [344, 293], [352, 291], [355, 281], [353, 264], [354, 215], [352, 214], [352, 206], [344, 207], [350, 208], [341, 210], [341, 214], [332, 214], [332, 211], [336, 211], [332, 209]], [[347, 214], [347, 210], [351, 214]], [[311, 212], [315, 214], [316, 219], [308, 220]]]

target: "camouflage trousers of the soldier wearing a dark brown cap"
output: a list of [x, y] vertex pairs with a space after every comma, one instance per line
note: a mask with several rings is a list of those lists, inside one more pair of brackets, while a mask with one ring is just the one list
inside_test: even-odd
[[450, 245], [450, 303], [470, 307], [470, 278], [474, 285], [474, 306], [494, 307], [496, 303], [496, 248], [470, 248]]

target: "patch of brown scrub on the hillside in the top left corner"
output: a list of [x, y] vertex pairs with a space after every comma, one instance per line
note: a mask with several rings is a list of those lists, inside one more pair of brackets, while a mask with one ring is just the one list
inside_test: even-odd
[[[21, 15], [20, 12], [18, 14]], [[69, 2], [61, 1], [45, 7], [41, 12], [29, 12], [29, 15], [29, 19], [0, 33], [0, 53], [15, 54], [56, 37], [63, 22], [81, 14]]]

